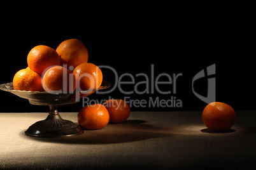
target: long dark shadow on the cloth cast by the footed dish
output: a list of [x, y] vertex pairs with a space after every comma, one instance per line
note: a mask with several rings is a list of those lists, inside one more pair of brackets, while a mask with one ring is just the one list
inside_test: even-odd
[[83, 134], [59, 138], [40, 138], [25, 135], [25, 130], [20, 136], [26, 140], [35, 140], [51, 143], [73, 143], [73, 144], [108, 144], [124, 143], [131, 141], [158, 138], [170, 135], [164, 128], [155, 127], [142, 120], [127, 120], [121, 124], [108, 124], [99, 130], [85, 130]]

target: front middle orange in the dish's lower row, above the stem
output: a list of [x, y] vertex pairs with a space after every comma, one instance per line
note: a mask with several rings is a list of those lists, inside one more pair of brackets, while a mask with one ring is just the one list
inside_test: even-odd
[[76, 79], [70, 70], [54, 66], [45, 72], [42, 84], [45, 91], [48, 92], [73, 92], [76, 88]]

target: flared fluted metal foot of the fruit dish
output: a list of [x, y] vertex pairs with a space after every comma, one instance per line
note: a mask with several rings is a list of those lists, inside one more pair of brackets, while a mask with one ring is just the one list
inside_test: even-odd
[[59, 114], [49, 114], [43, 121], [32, 124], [25, 134], [36, 137], [61, 137], [82, 134], [83, 129], [74, 122], [64, 120]]

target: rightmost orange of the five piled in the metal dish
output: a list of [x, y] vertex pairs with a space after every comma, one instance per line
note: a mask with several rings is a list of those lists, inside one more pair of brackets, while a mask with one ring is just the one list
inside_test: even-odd
[[78, 65], [73, 74], [76, 77], [76, 88], [78, 91], [98, 88], [103, 82], [101, 69], [93, 63], [82, 63]]

